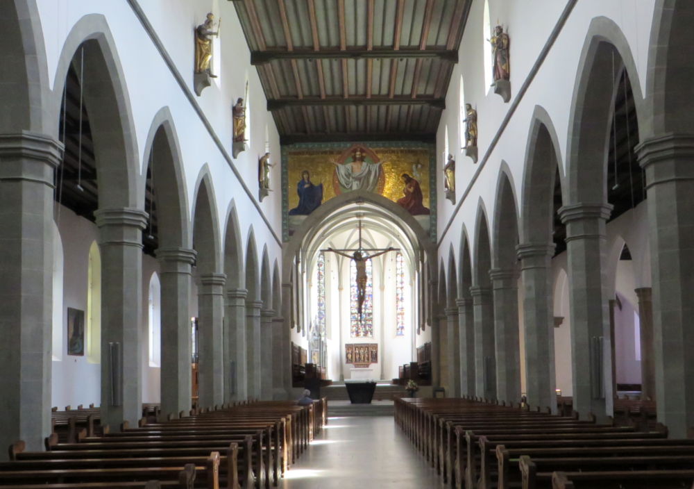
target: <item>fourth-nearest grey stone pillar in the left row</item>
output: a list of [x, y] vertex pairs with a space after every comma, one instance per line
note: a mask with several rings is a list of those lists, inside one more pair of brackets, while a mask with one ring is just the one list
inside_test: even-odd
[[224, 285], [225, 274], [200, 276], [198, 287], [198, 405], [224, 402]]

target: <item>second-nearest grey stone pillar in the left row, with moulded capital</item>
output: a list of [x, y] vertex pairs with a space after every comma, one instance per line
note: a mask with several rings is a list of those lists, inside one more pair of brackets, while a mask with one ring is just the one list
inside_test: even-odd
[[137, 424], [142, 415], [139, 324], [147, 215], [114, 208], [94, 216], [101, 250], [101, 424], [117, 430], [123, 421]]

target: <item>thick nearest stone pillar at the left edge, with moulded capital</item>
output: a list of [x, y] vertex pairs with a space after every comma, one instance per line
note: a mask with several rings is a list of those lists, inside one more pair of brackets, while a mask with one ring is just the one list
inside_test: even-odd
[[[62, 144], [0, 135], [0, 444], [41, 450], [51, 432], [53, 170]], [[7, 460], [6, 451], [0, 460]]]

